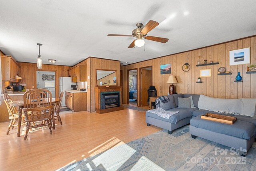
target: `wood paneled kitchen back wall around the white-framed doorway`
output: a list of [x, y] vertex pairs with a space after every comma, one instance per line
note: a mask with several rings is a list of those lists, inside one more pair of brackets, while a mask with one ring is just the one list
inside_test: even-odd
[[[36, 88], [36, 70], [37, 65], [34, 63], [18, 62], [20, 64], [20, 77], [22, 80], [20, 84], [27, 84], [27, 89]], [[69, 66], [58, 66], [58, 65], [42, 65], [42, 70], [56, 71], [56, 97], [59, 95], [59, 77], [67, 77]]]

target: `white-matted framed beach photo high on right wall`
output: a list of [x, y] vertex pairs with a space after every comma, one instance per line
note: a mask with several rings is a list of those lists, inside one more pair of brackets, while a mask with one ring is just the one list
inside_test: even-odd
[[250, 48], [229, 51], [229, 65], [250, 64]]

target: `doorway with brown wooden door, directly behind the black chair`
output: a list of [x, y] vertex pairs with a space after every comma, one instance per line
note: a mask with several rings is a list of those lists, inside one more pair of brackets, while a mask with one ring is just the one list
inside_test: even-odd
[[153, 84], [152, 82], [152, 66], [140, 68], [140, 96], [139, 106], [147, 106], [148, 104], [148, 88]]

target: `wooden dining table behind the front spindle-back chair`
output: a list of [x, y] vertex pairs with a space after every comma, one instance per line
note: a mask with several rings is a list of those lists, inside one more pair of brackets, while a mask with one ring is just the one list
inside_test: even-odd
[[[58, 103], [60, 99], [58, 98], [52, 98], [52, 103]], [[46, 100], [48, 103], [48, 99]], [[17, 132], [17, 137], [20, 137], [20, 127], [21, 127], [21, 120], [22, 120], [22, 108], [24, 107], [24, 101], [23, 100], [17, 100], [13, 101], [10, 103], [11, 106], [19, 107], [19, 112], [18, 112], [18, 132]], [[52, 128], [55, 129], [55, 119], [54, 119], [54, 109], [52, 111]]]

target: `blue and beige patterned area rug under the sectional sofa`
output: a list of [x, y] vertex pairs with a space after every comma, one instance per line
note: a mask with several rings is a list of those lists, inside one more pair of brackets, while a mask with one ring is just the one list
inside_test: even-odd
[[250, 171], [256, 168], [256, 143], [246, 157], [224, 145], [197, 137], [186, 125], [168, 134], [161, 130], [88, 157], [60, 171]]

